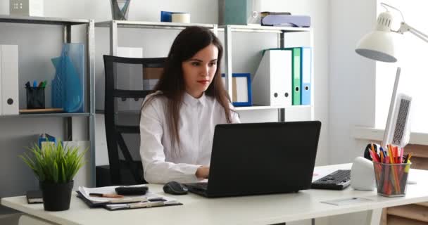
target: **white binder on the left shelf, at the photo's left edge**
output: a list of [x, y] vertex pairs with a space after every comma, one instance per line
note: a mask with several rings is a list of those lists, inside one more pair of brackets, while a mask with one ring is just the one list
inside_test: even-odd
[[1, 45], [1, 114], [18, 115], [18, 46]]

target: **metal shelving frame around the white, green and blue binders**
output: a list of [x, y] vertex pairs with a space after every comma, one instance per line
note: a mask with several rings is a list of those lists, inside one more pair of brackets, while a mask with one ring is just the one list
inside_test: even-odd
[[[256, 32], [256, 33], [276, 33], [277, 35], [277, 47], [284, 48], [284, 40], [287, 33], [290, 32], [310, 32], [310, 46], [313, 47], [313, 31], [311, 28], [306, 27], [267, 27], [261, 25], [222, 25], [218, 27], [218, 31], [225, 33], [225, 75], [226, 75], [226, 89], [228, 93], [232, 93], [232, 34], [233, 32]], [[312, 53], [313, 54], [313, 53]], [[312, 61], [313, 62], [313, 61]], [[312, 64], [313, 67], [313, 64]], [[267, 110], [277, 109], [278, 110], [278, 121], [285, 121], [285, 111], [287, 108], [310, 108], [310, 120], [314, 119], [314, 79], [313, 70], [311, 75], [311, 105], [291, 105], [288, 107], [270, 106], [270, 105], [254, 105], [248, 107], [237, 107], [236, 110]]]

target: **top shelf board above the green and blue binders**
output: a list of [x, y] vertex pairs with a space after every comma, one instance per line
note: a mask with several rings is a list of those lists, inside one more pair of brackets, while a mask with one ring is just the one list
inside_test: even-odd
[[287, 32], [310, 32], [310, 27], [270, 27], [262, 25], [221, 25], [219, 31], [224, 31], [228, 27], [233, 32], [267, 32], [267, 33], [287, 33]]

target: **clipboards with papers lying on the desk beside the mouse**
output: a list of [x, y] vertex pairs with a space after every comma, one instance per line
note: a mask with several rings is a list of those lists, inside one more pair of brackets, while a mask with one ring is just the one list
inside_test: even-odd
[[[142, 185], [136, 185], [144, 186]], [[91, 193], [97, 193], [98, 195], [115, 194], [115, 188], [119, 186], [106, 186], [101, 188], [86, 188], [79, 187], [77, 191], [77, 197], [82, 199], [89, 207], [103, 207], [106, 210], [130, 210], [136, 208], [147, 208], [147, 207], [161, 207], [161, 206], [172, 206], [172, 205], [183, 205], [177, 202], [175, 198], [165, 197], [148, 191], [145, 195], [125, 195], [123, 198], [106, 198], [106, 197], [94, 197]]]

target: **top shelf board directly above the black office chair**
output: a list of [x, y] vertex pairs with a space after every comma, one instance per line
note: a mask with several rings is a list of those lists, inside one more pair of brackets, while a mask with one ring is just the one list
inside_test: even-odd
[[95, 23], [95, 27], [110, 27], [115, 23], [118, 27], [128, 28], [149, 28], [149, 29], [184, 29], [191, 26], [214, 28], [213, 24], [205, 23], [169, 23], [169, 22], [149, 22], [149, 21], [129, 21], [129, 20], [108, 20]]

